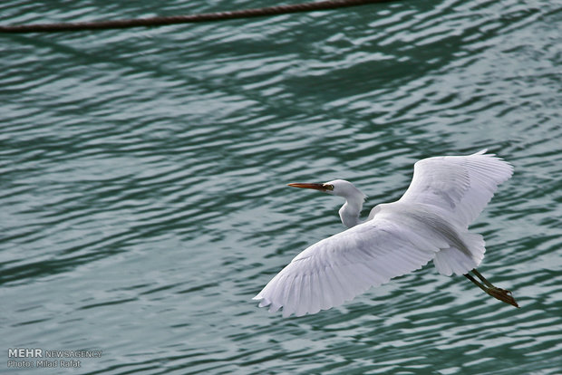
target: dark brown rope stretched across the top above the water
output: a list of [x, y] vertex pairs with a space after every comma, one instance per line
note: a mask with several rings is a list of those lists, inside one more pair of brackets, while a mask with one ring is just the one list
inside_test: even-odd
[[277, 5], [265, 8], [245, 9], [232, 12], [172, 15], [167, 17], [164, 16], [99, 22], [79, 22], [68, 24], [0, 25], [0, 33], [52, 33], [80, 30], [124, 29], [129, 27], [162, 26], [167, 24], [188, 24], [233, 20], [238, 18], [263, 17], [266, 15], [324, 11], [349, 6], [367, 5], [373, 3], [388, 3], [391, 1], [393, 0], [327, 0], [315, 3]]

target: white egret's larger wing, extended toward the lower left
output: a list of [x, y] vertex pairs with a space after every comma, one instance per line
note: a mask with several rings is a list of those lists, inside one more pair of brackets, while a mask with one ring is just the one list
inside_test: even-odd
[[389, 210], [305, 249], [254, 297], [270, 312], [315, 313], [422, 268], [447, 247], [419, 220]]

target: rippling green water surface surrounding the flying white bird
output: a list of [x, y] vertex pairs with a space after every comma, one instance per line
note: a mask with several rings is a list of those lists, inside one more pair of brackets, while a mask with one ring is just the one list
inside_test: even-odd
[[[2, 24], [273, 1], [7, 1]], [[0, 372], [562, 373], [562, 6], [416, 1], [213, 24], [0, 35]], [[413, 163], [515, 174], [472, 226], [499, 303], [430, 263], [301, 318], [251, 298]], [[101, 351], [17, 369], [10, 349]], [[13, 354], [13, 353], [12, 353]]]

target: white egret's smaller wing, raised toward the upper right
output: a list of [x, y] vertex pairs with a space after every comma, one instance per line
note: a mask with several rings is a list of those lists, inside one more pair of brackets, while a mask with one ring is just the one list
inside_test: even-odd
[[513, 174], [509, 163], [486, 151], [416, 162], [412, 183], [399, 202], [430, 205], [444, 218], [468, 227], [486, 207], [498, 185]]

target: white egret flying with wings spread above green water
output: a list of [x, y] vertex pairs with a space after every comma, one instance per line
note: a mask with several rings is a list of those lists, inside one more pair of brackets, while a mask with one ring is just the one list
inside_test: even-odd
[[509, 163], [486, 152], [416, 162], [404, 195], [373, 207], [363, 223], [359, 216], [366, 196], [351, 182], [289, 184], [344, 197], [339, 214], [349, 229], [296, 255], [254, 297], [261, 301], [259, 307], [269, 306], [270, 312], [283, 307], [284, 316], [316, 313], [431, 260], [440, 274], [464, 274], [484, 292], [518, 307], [511, 292], [490, 284], [476, 270], [486, 249], [469, 225], [513, 174]]

